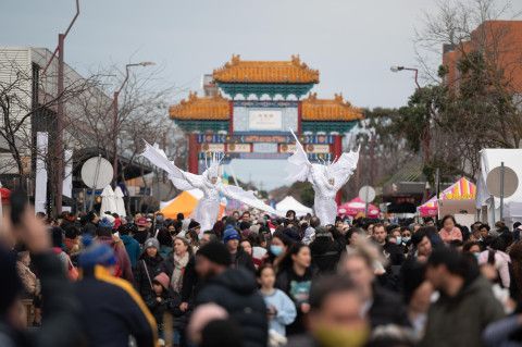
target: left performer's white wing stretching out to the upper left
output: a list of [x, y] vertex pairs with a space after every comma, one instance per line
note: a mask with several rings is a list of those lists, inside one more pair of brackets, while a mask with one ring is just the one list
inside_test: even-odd
[[145, 141], [145, 151], [141, 156], [147, 158], [156, 166], [165, 171], [177, 189], [190, 190], [203, 184], [200, 175], [195, 175], [178, 169], [174, 165], [174, 162], [166, 158], [165, 152], [156, 145], [151, 146]]

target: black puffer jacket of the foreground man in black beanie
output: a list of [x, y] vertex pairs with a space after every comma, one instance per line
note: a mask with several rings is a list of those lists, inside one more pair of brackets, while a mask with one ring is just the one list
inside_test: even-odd
[[256, 280], [245, 269], [228, 269], [202, 286], [197, 305], [215, 302], [241, 327], [244, 347], [265, 347], [269, 322], [266, 306]]

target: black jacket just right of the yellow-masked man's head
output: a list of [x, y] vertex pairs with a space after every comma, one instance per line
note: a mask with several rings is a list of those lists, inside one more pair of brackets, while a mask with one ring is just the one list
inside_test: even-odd
[[378, 285], [373, 286], [373, 301], [368, 312], [372, 327], [378, 325], [410, 326], [408, 314], [400, 297]]

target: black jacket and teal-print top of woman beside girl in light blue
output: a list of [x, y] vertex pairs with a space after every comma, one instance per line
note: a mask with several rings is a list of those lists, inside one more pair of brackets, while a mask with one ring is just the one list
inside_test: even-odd
[[304, 313], [301, 310], [301, 305], [309, 302], [312, 277], [313, 272], [310, 268], [307, 269], [307, 272], [302, 276], [296, 274], [291, 268], [283, 270], [277, 274], [275, 287], [288, 295], [297, 309], [296, 320], [286, 329], [287, 335], [303, 334], [306, 331]]

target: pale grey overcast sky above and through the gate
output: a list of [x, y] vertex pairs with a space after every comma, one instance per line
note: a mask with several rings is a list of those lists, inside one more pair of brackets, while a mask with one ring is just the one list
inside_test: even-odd
[[[522, 1], [513, 2], [522, 8]], [[245, 60], [300, 54], [320, 71], [314, 89], [320, 97], [343, 92], [355, 106], [374, 108], [402, 106], [412, 94], [412, 74], [394, 74], [389, 66], [415, 64], [414, 28], [436, 5], [434, 0], [80, 0], [80, 8], [65, 49], [65, 61], [79, 73], [154, 61], [165, 84], [199, 89], [201, 75], [233, 53]], [[0, 46], [53, 50], [74, 9], [74, 0], [0, 0]], [[281, 164], [234, 166], [241, 178], [251, 175], [273, 187], [281, 183]]]

